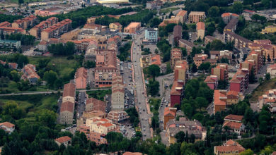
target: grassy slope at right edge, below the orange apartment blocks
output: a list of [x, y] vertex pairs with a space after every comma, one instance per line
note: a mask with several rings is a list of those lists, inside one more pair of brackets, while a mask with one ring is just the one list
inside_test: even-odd
[[258, 97], [265, 94], [269, 89], [275, 89], [276, 87], [276, 78], [263, 82], [262, 85], [259, 85], [253, 92], [251, 101], [258, 101]]

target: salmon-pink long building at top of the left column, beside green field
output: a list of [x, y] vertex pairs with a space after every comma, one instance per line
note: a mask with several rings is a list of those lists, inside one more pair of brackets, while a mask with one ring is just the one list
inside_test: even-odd
[[86, 89], [87, 70], [84, 67], [78, 68], [75, 73], [74, 82], [76, 89]]

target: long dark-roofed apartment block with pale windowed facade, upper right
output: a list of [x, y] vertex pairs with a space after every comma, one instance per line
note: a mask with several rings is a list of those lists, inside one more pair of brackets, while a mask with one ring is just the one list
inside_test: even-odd
[[248, 48], [253, 42], [248, 40], [240, 35], [236, 35], [234, 32], [224, 31], [224, 42], [234, 41], [234, 47], [238, 50], [241, 50], [243, 47]]

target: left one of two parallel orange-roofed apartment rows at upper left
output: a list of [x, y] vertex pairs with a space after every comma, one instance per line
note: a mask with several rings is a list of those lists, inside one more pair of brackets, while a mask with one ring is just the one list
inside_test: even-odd
[[40, 22], [38, 25], [35, 25], [33, 28], [30, 29], [30, 35], [33, 35], [35, 38], [40, 38], [42, 30], [45, 30], [46, 28], [57, 24], [57, 21], [57, 18], [51, 17], [45, 21]]

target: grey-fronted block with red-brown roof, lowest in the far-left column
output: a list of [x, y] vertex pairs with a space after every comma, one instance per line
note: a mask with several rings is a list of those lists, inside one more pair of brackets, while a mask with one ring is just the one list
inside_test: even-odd
[[74, 118], [74, 103], [70, 101], [62, 102], [59, 111], [59, 123], [69, 125], [73, 124]]

